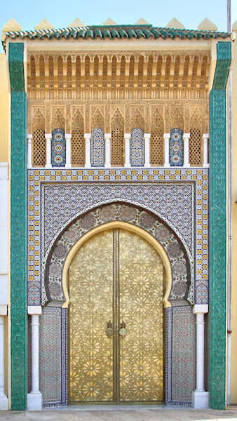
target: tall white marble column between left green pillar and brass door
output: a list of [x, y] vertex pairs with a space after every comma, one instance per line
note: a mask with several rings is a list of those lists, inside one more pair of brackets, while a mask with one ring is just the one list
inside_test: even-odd
[[42, 395], [39, 392], [39, 316], [41, 306], [28, 306], [32, 317], [32, 390], [27, 394], [27, 409], [39, 410], [42, 406]]

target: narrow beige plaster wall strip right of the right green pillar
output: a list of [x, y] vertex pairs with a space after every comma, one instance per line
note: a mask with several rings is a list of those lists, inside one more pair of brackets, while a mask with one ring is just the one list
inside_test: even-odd
[[[237, 30], [235, 31], [237, 38]], [[231, 335], [231, 403], [237, 403], [237, 39], [233, 43], [233, 258], [232, 258], [232, 335]]]

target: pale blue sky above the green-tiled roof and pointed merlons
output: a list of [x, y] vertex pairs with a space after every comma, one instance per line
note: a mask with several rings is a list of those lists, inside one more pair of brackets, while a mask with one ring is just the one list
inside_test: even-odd
[[[232, 22], [237, 20], [237, 0], [232, 0]], [[197, 29], [208, 18], [219, 31], [226, 31], [227, 0], [11, 0], [1, 2], [0, 27], [14, 18], [23, 30], [32, 30], [47, 19], [56, 29], [79, 18], [85, 25], [102, 25], [111, 18], [121, 25], [133, 25], [144, 18], [154, 26], [165, 27], [172, 18], [187, 29]], [[3, 50], [1, 50], [2, 52]]]

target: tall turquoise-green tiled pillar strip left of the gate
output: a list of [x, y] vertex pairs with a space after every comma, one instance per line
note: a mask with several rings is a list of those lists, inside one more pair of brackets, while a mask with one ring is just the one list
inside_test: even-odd
[[11, 409], [27, 406], [27, 98], [24, 44], [9, 44], [11, 81]]

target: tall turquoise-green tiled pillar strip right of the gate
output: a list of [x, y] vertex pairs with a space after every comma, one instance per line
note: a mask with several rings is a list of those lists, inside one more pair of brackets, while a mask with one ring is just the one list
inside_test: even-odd
[[217, 43], [210, 91], [210, 408], [226, 405], [226, 83], [231, 43]]

